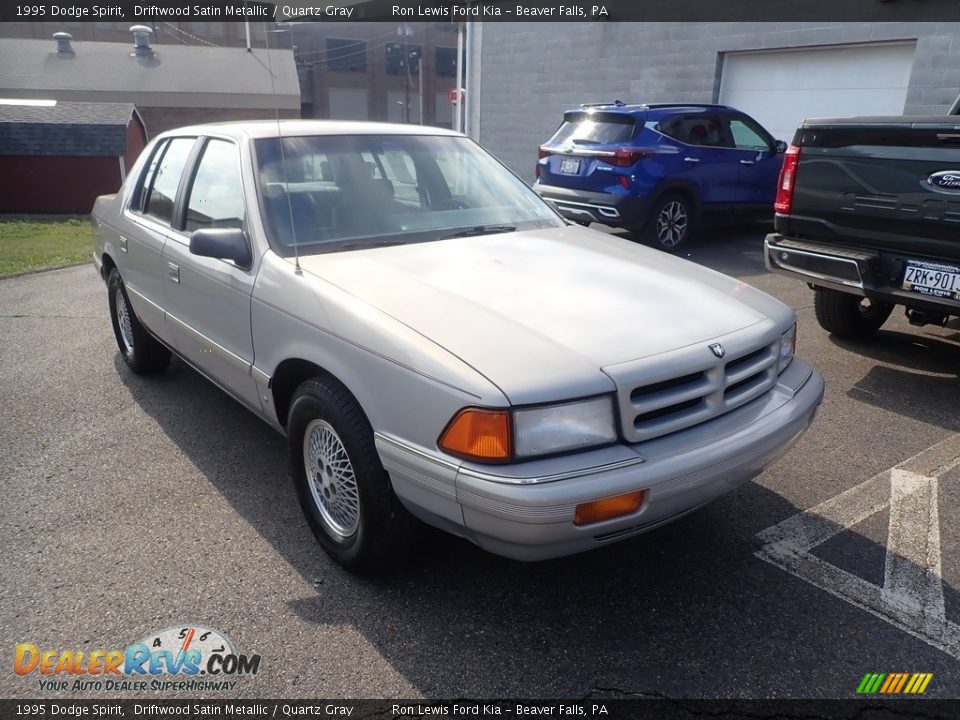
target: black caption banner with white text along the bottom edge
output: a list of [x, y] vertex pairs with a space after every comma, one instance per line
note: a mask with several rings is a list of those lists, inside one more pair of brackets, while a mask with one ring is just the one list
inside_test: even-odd
[[0, 700], [5, 720], [68, 718], [604, 718], [608, 720], [735, 720], [948, 718], [956, 700]]

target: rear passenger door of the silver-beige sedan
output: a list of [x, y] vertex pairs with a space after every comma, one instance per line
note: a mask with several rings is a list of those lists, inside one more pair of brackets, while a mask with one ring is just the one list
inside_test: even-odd
[[127, 297], [150, 332], [176, 346], [165, 317], [166, 274], [163, 246], [173, 219], [173, 205], [195, 137], [172, 138], [157, 145], [124, 213], [118, 265]]

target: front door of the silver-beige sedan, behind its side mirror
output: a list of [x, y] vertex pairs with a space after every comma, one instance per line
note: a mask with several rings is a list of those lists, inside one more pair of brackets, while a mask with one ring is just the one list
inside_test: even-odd
[[179, 217], [163, 250], [167, 316], [180, 354], [225, 390], [261, 412], [251, 376], [252, 267], [190, 252], [190, 235], [201, 228], [246, 229], [247, 203], [239, 147], [202, 138], [178, 202]]

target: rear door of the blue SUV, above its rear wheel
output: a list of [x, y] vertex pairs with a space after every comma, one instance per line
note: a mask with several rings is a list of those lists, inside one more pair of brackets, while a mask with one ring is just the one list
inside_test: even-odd
[[680, 177], [697, 187], [704, 209], [727, 207], [735, 202], [737, 161], [730, 157], [723, 119], [713, 113], [674, 115], [658, 129], [679, 141], [685, 170]]

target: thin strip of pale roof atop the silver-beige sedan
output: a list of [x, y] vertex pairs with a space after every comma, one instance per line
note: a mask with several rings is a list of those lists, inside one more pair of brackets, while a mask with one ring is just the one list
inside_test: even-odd
[[272, 138], [280, 135], [439, 135], [465, 137], [463, 133], [429, 125], [365, 122], [360, 120], [244, 120], [204, 123], [167, 130], [157, 137], [213, 134], [236, 140]]

